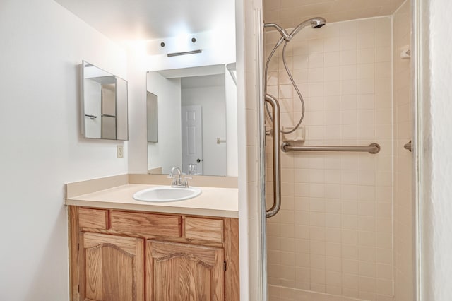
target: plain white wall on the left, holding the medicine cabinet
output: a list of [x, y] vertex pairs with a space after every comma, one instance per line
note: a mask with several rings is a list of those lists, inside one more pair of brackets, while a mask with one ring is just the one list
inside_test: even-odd
[[126, 78], [126, 54], [54, 1], [0, 6], [0, 300], [69, 300], [64, 183], [127, 172], [81, 138], [78, 65]]

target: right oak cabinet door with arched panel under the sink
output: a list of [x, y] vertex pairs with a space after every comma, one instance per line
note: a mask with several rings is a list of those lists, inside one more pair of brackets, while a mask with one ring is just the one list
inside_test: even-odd
[[224, 300], [223, 249], [146, 242], [148, 301]]

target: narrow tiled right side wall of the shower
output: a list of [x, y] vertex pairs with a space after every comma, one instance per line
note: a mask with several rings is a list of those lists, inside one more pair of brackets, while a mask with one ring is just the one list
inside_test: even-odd
[[394, 40], [394, 277], [397, 301], [415, 300], [414, 201], [412, 153], [403, 145], [412, 139], [410, 59], [400, 53], [409, 49], [411, 11], [406, 1], [393, 16]]

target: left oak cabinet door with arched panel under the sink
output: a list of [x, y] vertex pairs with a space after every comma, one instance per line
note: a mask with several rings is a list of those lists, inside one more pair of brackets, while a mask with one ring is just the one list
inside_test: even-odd
[[96, 233], [81, 239], [81, 300], [144, 300], [142, 239]]

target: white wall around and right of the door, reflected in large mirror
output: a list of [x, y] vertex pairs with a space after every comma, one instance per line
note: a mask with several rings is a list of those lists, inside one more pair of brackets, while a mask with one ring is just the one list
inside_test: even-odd
[[216, 140], [226, 139], [225, 86], [182, 88], [182, 105], [202, 107], [203, 175], [226, 175], [226, 143]]

